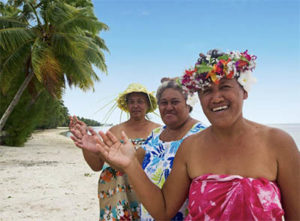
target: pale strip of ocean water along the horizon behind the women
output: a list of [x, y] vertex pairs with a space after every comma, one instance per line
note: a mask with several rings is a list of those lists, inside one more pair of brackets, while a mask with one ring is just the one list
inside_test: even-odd
[[[294, 141], [296, 142], [298, 150], [300, 151], [300, 123], [299, 124], [298, 123], [297, 124], [269, 124], [268, 126], [279, 128], [287, 132], [289, 135], [291, 135]], [[94, 127], [94, 130], [97, 132], [99, 130], [106, 132], [109, 128], [110, 128], [109, 126]], [[68, 133], [67, 136], [70, 136], [70, 133]]]

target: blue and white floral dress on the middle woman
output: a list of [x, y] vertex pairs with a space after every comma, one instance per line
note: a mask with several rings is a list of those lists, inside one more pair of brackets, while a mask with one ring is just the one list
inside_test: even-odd
[[[205, 126], [201, 122], [198, 122], [182, 139], [170, 142], [164, 142], [159, 139], [160, 134], [165, 128], [166, 126], [154, 129], [144, 145], [142, 145], [142, 148], [146, 151], [142, 165], [143, 169], [149, 179], [159, 188], [162, 188], [171, 172], [175, 154], [182, 141], [186, 137], [205, 129]], [[187, 206], [188, 203], [186, 200], [172, 220], [183, 220], [188, 214]], [[154, 220], [143, 206], [141, 206], [141, 220]]]

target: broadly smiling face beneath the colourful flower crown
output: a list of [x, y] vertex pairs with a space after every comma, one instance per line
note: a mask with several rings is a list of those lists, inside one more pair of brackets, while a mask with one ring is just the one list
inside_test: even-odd
[[246, 91], [235, 79], [222, 79], [198, 92], [203, 112], [213, 126], [227, 127], [243, 117]]

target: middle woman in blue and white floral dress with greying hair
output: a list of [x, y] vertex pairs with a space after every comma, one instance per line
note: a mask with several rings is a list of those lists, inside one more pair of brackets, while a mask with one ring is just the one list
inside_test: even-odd
[[[156, 99], [165, 126], [154, 129], [142, 145], [146, 152], [142, 166], [149, 179], [162, 188], [182, 141], [205, 126], [190, 117], [190, 100], [174, 80], [165, 79], [157, 90]], [[186, 201], [172, 220], [183, 220], [188, 213], [187, 206]], [[154, 220], [143, 206], [141, 220]]]

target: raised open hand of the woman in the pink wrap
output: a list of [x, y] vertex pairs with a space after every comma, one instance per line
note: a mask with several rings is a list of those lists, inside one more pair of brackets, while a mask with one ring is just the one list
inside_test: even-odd
[[97, 142], [97, 147], [105, 159], [115, 166], [126, 169], [136, 158], [135, 148], [126, 134], [122, 131], [121, 143], [110, 131], [106, 134], [99, 132], [103, 141]]

